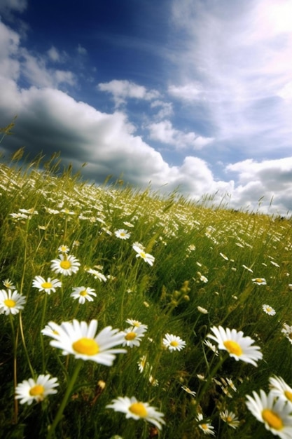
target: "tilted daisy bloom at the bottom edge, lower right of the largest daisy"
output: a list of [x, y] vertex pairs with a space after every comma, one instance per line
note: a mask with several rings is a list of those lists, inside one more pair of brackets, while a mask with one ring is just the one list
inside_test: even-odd
[[162, 428], [161, 424], [165, 424], [164, 419], [162, 419], [163, 413], [158, 412], [156, 407], [151, 407], [148, 403], [141, 403], [134, 396], [132, 398], [119, 396], [111, 404], [106, 405], [106, 408], [125, 413], [127, 419], [132, 418], [136, 421], [144, 419], [154, 424], [158, 429]]

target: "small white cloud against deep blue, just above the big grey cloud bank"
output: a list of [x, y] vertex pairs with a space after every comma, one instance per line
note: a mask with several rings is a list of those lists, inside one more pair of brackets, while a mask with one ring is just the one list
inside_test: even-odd
[[147, 90], [144, 86], [127, 80], [113, 79], [106, 83], [99, 83], [97, 88], [101, 91], [111, 93], [116, 107], [124, 104], [127, 99], [153, 100], [160, 97], [157, 90]]

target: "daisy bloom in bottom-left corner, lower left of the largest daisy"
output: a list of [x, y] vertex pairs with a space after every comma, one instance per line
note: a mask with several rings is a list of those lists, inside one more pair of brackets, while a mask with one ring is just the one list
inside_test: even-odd
[[20, 404], [32, 404], [33, 401], [40, 403], [46, 396], [57, 393], [54, 387], [59, 386], [57, 378], [50, 378], [50, 375], [39, 375], [36, 380], [25, 379], [15, 388], [15, 399], [20, 399]]

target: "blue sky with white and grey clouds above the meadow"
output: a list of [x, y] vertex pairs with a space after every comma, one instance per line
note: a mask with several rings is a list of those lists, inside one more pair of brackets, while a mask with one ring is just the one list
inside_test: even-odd
[[0, 0], [0, 151], [291, 215], [292, 0]]

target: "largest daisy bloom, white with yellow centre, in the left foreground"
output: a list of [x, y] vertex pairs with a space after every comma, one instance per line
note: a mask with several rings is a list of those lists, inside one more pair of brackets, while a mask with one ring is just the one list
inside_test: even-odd
[[111, 349], [124, 342], [124, 332], [106, 326], [96, 335], [97, 320], [91, 320], [89, 325], [78, 320], [63, 322], [61, 325], [50, 322], [48, 325], [56, 332], [50, 335], [54, 338], [50, 345], [62, 349], [63, 355], [71, 353], [75, 358], [111, 366], [116, 353], [127, 352], [125, 349]]

